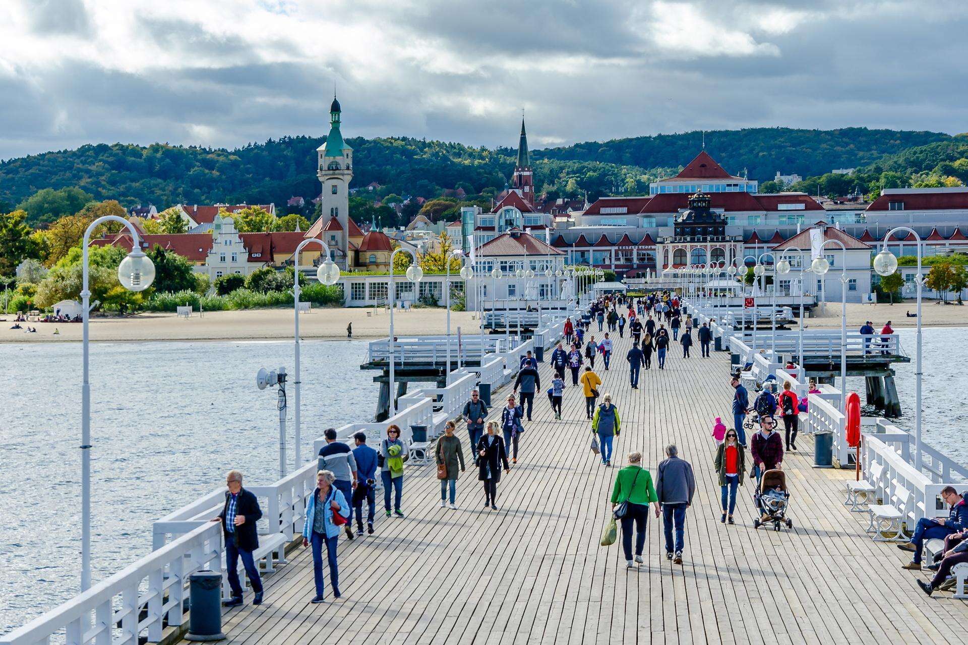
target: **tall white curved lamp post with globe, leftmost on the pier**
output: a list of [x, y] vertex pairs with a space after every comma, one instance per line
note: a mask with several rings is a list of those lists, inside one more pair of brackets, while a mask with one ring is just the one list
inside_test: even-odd
[[141, 250], [141, 242], [137, 237], [137, 230], [134, 225], [124, 218], [116, 215], [106, 215], [90, 223], [84, 231], [84, 239], [81, 242], [81, 321], [83, 323], [82, 332], [82, 361], [83, 361], [83, 381], [80, 386], [80, 504], [81, 504], [81, 531], [80, 531], [80, 590], [87, 591], [91, 588], [91, 382], [90, 370], [88, 368], [89, 359], [89, 337], [88, 319], [91, 309], [91, 290], [88, 287], [88, 245], [90, 244], [91, 233], [95, 228], [106, 221], [117, 221], [127, 226], [131, 233], [131, 252], [121, 260], [118, 265], [118, 280], [121, 285], [129, 291], [144, 291], [155, 279], [155, 265], [151, 258]]

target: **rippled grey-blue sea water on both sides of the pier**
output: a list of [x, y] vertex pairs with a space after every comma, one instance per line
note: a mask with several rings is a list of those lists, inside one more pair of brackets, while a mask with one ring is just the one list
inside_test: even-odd
[[[914, 331], [900, 334], [913, 357]], [[968, 329], [925, 330], [923, 346], [924, 440], [968, 464]], [[0, 633], [79, 588], [80, 351], [0, 344]], [[303, 343], [304, 454], [326, 427], [373, 418], [365, 354], [365, 342]], [[227, 469], [251, 484], [277, 479], [276, 394], [258, 391], [255, 374], [292, 365], [291, 342], [92, 345], [95, 580], [146, 554], [151, 523], [219, 485]], [[896, 379], [906, 414], [897, 423], [910, 429], [914, 365], [898, 366]]]

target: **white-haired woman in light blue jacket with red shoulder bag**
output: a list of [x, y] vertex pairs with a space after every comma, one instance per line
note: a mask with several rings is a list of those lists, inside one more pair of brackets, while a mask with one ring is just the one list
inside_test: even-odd
[[348, 522], [349, 505], [343, 491], [333, 485], [336, 475], [329, 470], [316, 474], [316, 490], [306, 506], [306, 522], [303, 524], [303, 546], [313, 545], [313, 573], [316, 578], [316, 597], [312, 602], [322, 602], [322, 544], [326, 544], [329, 560], [329, 581], [333, 585], [333, 598], [340, 597], [340, 574], [336, 563], [336, 546], [340, 539], [340, 527]]

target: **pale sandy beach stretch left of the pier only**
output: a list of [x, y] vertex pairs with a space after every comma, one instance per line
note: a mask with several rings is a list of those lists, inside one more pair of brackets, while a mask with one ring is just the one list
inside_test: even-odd
[[[369, 313], [369, 315], [367, 315]], [[292, 338], [292, 309], [249, 309], [244, 311], [206, 311], [191, 318], [178, 318], [174, 313], [141, 313], [127, 317], [91, 318], [90, 336], [100, 341], [143, 340], [281, 340]], [[470, 311], [452, 311], [451, 333], [479, 334], [480, 327]], [[0, 316], [0, 342], [58, 342], [81, 339], [80, 323], [29, 323], [37, 327], [37, 334], [12, 330], [15, 316]], [[353, 338], [386, 337], [389, 333], [390, 313], [373, 308], [314, 308], [299, 314], [299, 332], [303, 338], [342, 340], [347, 337], [347, 325], [353, 325]], [[398, 310], [393, 324], [398, 337], [445, 334], [446, 311], [442, 308]], [[60, 331], [54, 335], [54, 329]]]

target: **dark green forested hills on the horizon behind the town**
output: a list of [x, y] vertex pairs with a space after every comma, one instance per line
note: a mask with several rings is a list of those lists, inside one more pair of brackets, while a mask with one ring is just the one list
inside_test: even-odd
[[[734, 174], [768, 180], [776, 170], [806, 177], [835, 167], [871, 164], [914, 146], [947, 142], [939, 132], [850, 128], [832, 131], [760, 128], [706, 133], [706, 149]], [[153, 203], [274, 202], [318, 194], [316, 148], [321, 137], [295, 136], [235, 150], [154, 144], [86, 145], [76, 150], [0, 162], [0, 202], [16, 204], [34, 192], [76, 187], [96, 199], [128, 206]], [[445, 189], [493, 194], [507, 182], [516, 151], [474, 148], [408, 137], [348, 139], [354, 149], [353, 186], [371, 182], [389, 192], [423, 197]], [[617, 191], [648, 191], [702, 146], [700, 132], [590, 142], [532, 151], [535, 186], [561, 196], [591, 199]]]

